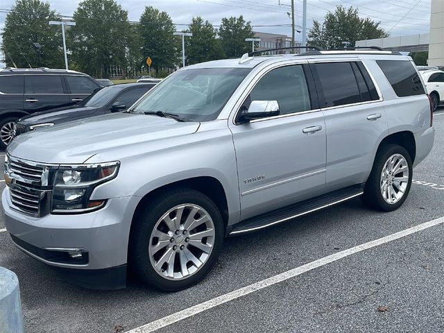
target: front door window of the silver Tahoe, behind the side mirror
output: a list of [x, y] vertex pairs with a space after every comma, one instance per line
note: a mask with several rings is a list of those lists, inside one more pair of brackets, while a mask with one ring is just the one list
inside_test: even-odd
[[265, 74], [250, 93], [251, 101], [278, 101], [280, 114], [310, 110], [302, 65], [280, 67]]

